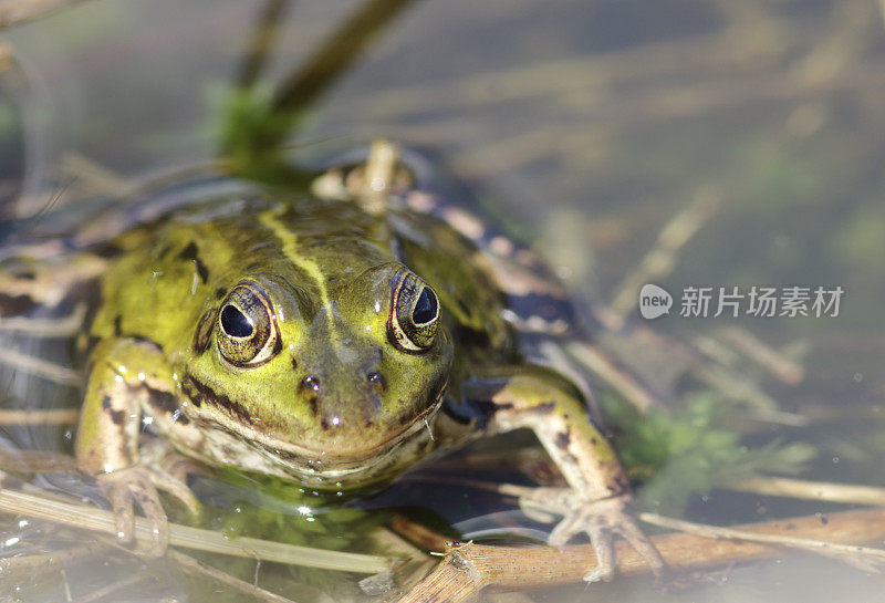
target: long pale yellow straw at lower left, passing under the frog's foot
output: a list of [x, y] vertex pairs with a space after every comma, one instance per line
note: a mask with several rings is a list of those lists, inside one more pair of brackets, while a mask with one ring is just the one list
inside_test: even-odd
[[[85, 505], [56, 502], [11, 490], [0, 490], [0, 511], [37, 517], [103, 533], [117, 532], [114, 516], [107, 511]], [[139, 518], [135, 521], [135, 538], [139, 542], [152, 542], [153, 531], [147, 520]], [[384, 557], [326, 551], [254, 538], [229, 539], [219, 532], [178, 523], [169, 524], [169, 543], [200, 551], [343, 572], [381, 573], [391, 565], [391, 560]]]

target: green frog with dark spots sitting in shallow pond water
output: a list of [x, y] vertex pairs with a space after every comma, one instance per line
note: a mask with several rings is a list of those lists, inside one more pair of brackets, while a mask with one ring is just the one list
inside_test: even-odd
[[386, 143], [310, 195], [209, 197], [123, 232], [91, 269], [75, 451], [121, 540], [137, 506], [162, 553], [158, 490], [192, 502], [145, 458], [146, 430], [210, 466], [352, 491], [528, 428], [568, 482], [520, 500], [562, 514], [550, 544], [587, 534], [590, 581], [613, 575], [615, 534], [662, 571], [586, 388], [544, 361], [583, 335], [533, 256], [418, 186]]

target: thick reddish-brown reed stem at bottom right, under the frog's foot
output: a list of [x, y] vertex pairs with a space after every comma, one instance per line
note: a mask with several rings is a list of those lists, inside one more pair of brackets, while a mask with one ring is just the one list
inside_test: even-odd
[[[885, 538], [885, 511], [856, 510], [832, 513], [822, 522], [818, 516], [767, 521], [732, 528], [740, 532], [788, 536], [833, 543], [860, 543]], [[782, 553], [782, 549], [762, 542], [709, 539], [688, 533], [652, 538], [674, 570], [704, 570], [742, 563]], [[648, 564], [626, 542], [617, 542], [620, 575], [650, 573]], [[400, 603], [472, 601], [479, 591], [491, 586], [522, 590], [580, 582], [596, 565], [593, 548], [586, 544], [553, 548], [490, 547], [452, 543], [445, 560], [409, 591]]]

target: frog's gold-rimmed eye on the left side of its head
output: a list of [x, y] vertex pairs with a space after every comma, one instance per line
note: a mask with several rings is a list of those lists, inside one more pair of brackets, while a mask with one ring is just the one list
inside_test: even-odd
[[273, 306], [254, 282], [241, 282], [218, 312], [218, 349], [237, 366], [257, 366], [280, 351]]

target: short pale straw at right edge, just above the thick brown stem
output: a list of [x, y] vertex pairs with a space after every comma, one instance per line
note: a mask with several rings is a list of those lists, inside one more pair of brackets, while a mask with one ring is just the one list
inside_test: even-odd
[[718, 487], [766, 496], [885, 507], [885, 488], [874, 488], [872, 486], [806, 481], [785, 477], [757, 477]]

